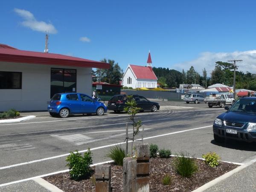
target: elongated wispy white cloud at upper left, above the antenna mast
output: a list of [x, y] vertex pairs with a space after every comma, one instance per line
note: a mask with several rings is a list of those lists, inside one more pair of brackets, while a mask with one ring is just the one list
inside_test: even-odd
[[39, 31], [39, 32], [49, 32], [52, 34], [57, 33], [57, 30], [55, 27], [52, 25], [52, 23], [46, 23], [44, 21], [38, 21], [34, 17], [34, 15], [24, 9], [17, 9], [15, 8], [14, 11], [22, 17], [24, 20], [21, 22], [23, 26], [26, 26], [34, 31]]

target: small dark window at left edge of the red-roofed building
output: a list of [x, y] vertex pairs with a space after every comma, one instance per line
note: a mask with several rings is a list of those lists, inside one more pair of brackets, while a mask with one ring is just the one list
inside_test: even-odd
[[0, 89], [21, 89], [22, 73], [0, 71]]

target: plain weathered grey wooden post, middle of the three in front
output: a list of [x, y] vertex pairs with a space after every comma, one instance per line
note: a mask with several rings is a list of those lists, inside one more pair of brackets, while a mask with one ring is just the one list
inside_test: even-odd
[[126, 157], [123, 160], [123, 192], [136, 192], [136, 160]]

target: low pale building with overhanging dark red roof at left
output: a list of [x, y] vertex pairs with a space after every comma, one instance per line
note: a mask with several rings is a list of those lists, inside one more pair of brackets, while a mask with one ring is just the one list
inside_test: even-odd
[[92, 93], [92, 68], [109, 64], [0, 44], [0, 111], [47, 110], [55, 93]]

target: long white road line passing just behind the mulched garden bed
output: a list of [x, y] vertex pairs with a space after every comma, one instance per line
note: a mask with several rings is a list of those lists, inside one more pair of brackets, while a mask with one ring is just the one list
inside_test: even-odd
[[[197, 130], [197, 129], [208, 128], [208, 127], [212, 127], [212, 125], [208, 125], [208, 126], [204, 126], [204, 127], [199, 127], [199, 128], [186, 129], [186, 130], [183, 130], [183, 131], [175, 131], [175, 132], [171, 132], [171, 133], [168, 133], [168, 134], [155, 135], [155, 136], [151, 136], [151, 137], [146, 137], [146, 138], [144, 138], [144, 140], [152, 139], [152, 138], [155, 138], [155, 137], [163, 137], [163, 136], [167, 136], [167, 135], [183, 133], [183, 132], [186, 132], [186, 131], [193, 131], [193, 130]], [[131, 143], [131, 142], [132, 141], [128, 141], [128, 143]], [[93, 151], [93, 150], [97, 150], [97, 149], [101, 149], [101, 148], [107, 148], [107, 147], [111, 147], [111, 146], [115, 146], [115, 145], [121, 145], [121, 144], [124, 144], [124, 142], [114, 143], [114, 144], [110, 144], [110, 145], [104, 145], [104, 146], [100, 146], [100, 147], [96, 147], [96, 148], [91, 148], [90, 150]], [[82, 150], [82, 151], [79, 151], [79, 153], [83, 153], [83, 152], [86, 152], [86, 151], [88, 151], [88, 150], [87, 149], [86, 150]], [[37, 162], [41, 162], [41, 161], [45, 161], [45, 160], [56, 159], [56, 158], [59, 158], [59, 157], [65, 157], [65, 156], [68, 156], [69, 154], [70, 153], [61, 154], [61, 155], [57, 155], [57, 156], [53, 156], [53, 157], [48, 157], [48, 158], [44, 158], [44, 159], [33, 160], [33, 161], [29, 161], [29, 162], [24, 162], [24, 163], [18, 163], [18, 164], [14, 164], [14, 165], [10, 165], [10, 166], [4, 166], [4, 167], [0, 167], [0, 170], [1, 169], [8, 169], [8, 168], [11, 168], [11, 167], [27, 165], [27, 164], [31, 164], [31, 163], [37, 163]]]

